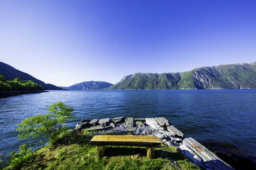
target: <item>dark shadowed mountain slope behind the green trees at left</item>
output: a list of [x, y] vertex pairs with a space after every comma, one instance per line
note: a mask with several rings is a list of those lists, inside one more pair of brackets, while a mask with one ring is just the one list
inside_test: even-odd
[[61, 90], [60, 87], [56, 87], [52, 84], [45, 84], [44, 81], [38, 80], [35, 77], [29, 75], [28, 73], [19, 71], [14, 67], [5, 64], [4, 62], [0, 62], [0, 75], [3, 75], [6, 80], [14, 80], [17, 77], [22, 78], [22, 80], [31, 80], [35, 83], [38, 83], [39, 85], [42, 85], [45, 90]]

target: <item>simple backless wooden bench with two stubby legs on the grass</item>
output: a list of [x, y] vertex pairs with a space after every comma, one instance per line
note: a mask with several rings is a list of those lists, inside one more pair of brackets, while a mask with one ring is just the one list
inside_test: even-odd
[[118, 145], [146, 147], [148, 159], [154, 159], [154, 147], [161, 146], [161, 141], [156, 136], [96, 135], [90, 143], [97, 145], [99, 157], [103, 157], [106, 145]]

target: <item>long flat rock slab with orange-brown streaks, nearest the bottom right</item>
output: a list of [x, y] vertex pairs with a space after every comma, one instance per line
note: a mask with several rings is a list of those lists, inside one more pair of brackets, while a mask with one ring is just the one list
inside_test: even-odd
[[205, 148], [205, 146], [198, 143], [193, 138], [186, 138], [182, 141], [181, 147], [189, 148], [189, 150], [192, 150], [192, 153], [195, 153], [204, 161], [205, 167], [211, 168], [211, 169], [233, 169], [230, 167], [226, 162], [221, 160], [217, 155], [212, 153], [210, 150]]

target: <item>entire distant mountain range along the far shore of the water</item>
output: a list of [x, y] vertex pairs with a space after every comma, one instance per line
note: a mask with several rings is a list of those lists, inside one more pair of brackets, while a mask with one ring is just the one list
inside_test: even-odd
[[[17, 77], [32, 80], [45, 90], [62, 89], [45, 84], [3, 62], [0, 62], [0, 75], [6, 80]], [[115, 85], [104, 81], [84, 81], [63, 89], [256, 89], [256, 62], [200, 67], [182, 73], [134, 73], [125, 76]]]

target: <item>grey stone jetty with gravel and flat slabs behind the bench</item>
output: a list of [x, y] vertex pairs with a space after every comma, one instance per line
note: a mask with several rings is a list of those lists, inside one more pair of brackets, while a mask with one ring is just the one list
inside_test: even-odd
[[75, 132], [97, 131], [97, 134], [154, 135], [163, 145], [176, 146], [180, 152], [204, 169], [233, 169], [205, 146], [184, 134], [164, 117], [156, 118], [83, 118]]

